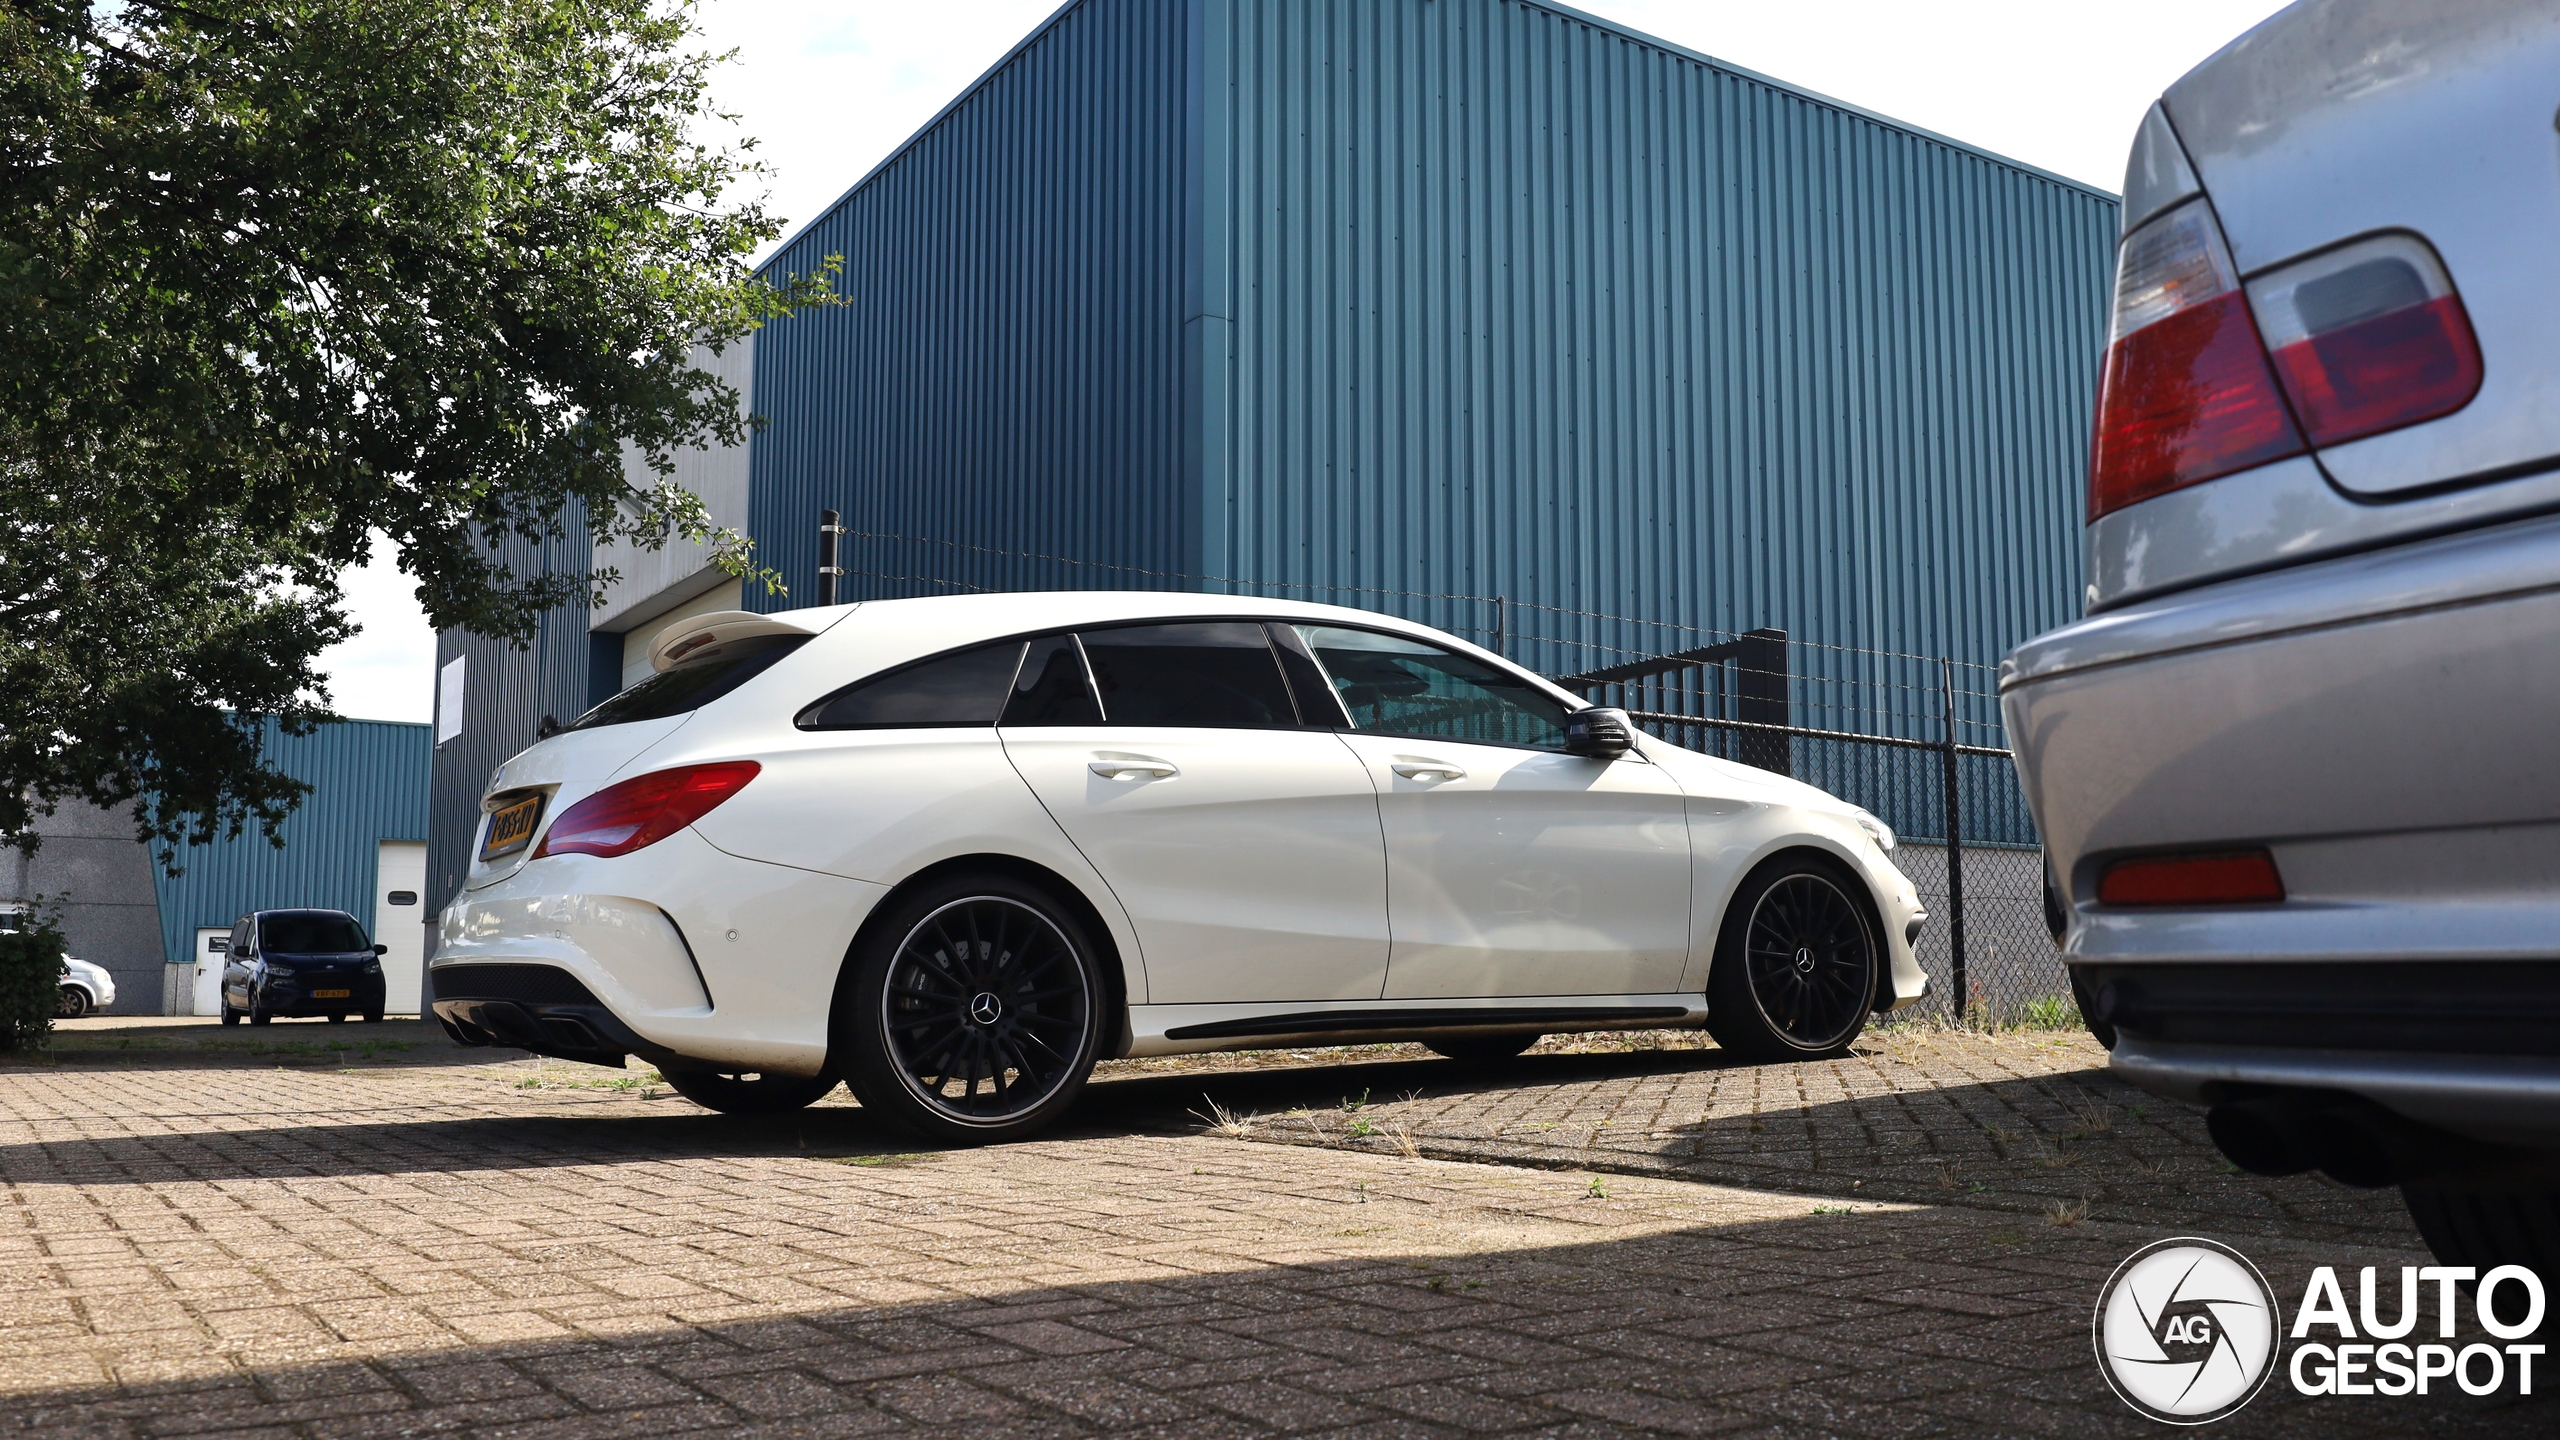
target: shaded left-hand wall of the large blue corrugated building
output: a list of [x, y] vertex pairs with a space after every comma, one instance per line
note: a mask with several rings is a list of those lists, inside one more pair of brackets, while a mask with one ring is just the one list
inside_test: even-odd
[[[845, 256], [845, 305], [758, 336], [771, 425], [750, 515], [791, 594], [750, 605], [814, 600], [822, 507], [858, 530], [1193, 569], [1185, 46], [1180, 5], [1060, 10], [771, 261]], [[865, 541], [845, 564], [865, 571], [847, 600], [1096, 584], [1075, 566]], [[942, 584], [891, 579], [906, 574]]]

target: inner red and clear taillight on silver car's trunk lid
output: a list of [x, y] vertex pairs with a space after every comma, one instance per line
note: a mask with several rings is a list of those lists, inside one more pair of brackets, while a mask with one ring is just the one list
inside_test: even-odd
[[2481, 392], [2481, 341], [2417, 236], [2373, 236], [2248, 282], [2284, 395], [2314, 446], [2450, 415]]

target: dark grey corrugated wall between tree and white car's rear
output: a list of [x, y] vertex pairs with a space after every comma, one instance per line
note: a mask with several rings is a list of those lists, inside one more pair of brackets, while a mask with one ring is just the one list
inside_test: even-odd
[[[499, 553], [520, 574], [586, 569], [589, 543], [584, 525], [584, 518], [573, 512], [566, 541], [532, 546], [509, 538]], [[545, 612], [527, 648], [463, 630], [438, 633], [438, 674], [456, 656], [466, 656], [463, 733], [433, 748], [428, 825], [430, 917], [461, 894], [463, 874], [471, 869], [471, 835], [479, 828], [479, 797], [489, 787], [489, 774], [499, 761], [535, 740], [543, 715], [571, 720], [591, 705], [594, 641], [586, 633], [584, 607], [563, 605]], [[428, 956], [435, 956], [433, 930], [428, 930]]]

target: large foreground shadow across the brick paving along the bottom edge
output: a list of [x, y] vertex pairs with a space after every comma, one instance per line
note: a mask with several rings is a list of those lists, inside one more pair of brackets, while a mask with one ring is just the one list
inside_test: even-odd
[[[1377, 1220], [1428, 1215], [1385, 1199]], [[1073, 1268], [1037, 1222], [978, 1222], [986, 1258], [975, 1276], [937, 1271], [950, 1289], [980, 1289], [978, 1299], [822, 1297], [753, 1320], [689, 1314], [717, 1314], [732, 1304], [722, 1297], [658, 1299], [599, 1312], [584, 1332], [509, 1309], [540, 1338], [466, 1345], [428, 1330], [364, 1361], [274, 1353], [228, 1368], [205, 1355], [212, 1363], [159, 1371], [189, 1379], [23, 1386], [0, 1430], [123, 1435], [128, 1425], [161, 1432], [166, 1420], [187, 1432], [300, 1425], [328, 1435], [2158, 1432], [2107, 1391], [2089, 1355], [2089, 1304], [2132, 1245], [2125, 1235], [2015, 1240], [1933, 1212], [1864, 1212], [1462, 1253], [1234, 1258], [1216, 1273], [1119, 1261], [1124, 1273], [1152, 1273], [1014, 1289], [1006, 1273]], [[1144, 1227], [1124, 1230], [1088, 1240], [1172, 1250], [1139, 1243]], [[883, 1284], [914, 1266], [893, 1248], [865, 1256]], [[2291, 1294], [2309, 1263], [2324, 1263], [2301, 1245], [2260, 1250], [2260, 1261]], [[1093, 1268], [1108, 1276], [1114, 1261]], [[573, 1299], [561, 1291], [545, 1309], [568, 1314]], [[87, 1340], [102, 1353], [136, 1343]], [[2440, 1381], [2424, 1399], [2304, 1399], [2278, 1371], [2214, 1435], [2560, 1430], [2547, 1396], [2519, 1402], [2511, 1389], [2468, 1399]]]

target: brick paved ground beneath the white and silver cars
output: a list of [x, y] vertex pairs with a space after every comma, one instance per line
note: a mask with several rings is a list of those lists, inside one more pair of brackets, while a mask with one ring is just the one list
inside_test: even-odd
[[[2184, 1112], [2010, 1038], [1124, 1063], [1060, 1138], [947, 1153], [415, 1027], [64, 1040], [0, 1066], [0, 1432], [2125, 1435], [2089, 1302], [2135, 1245], [2237, 1240], [2289, 1304], [2312, 1263], [2422, 1263], [2368, 1197], [2225, 1186]], [[1203, 1133], [1203, 1097], [1298, 1143]], [[2278, 1381], [2214, 1430], [2555, 1420]]]

